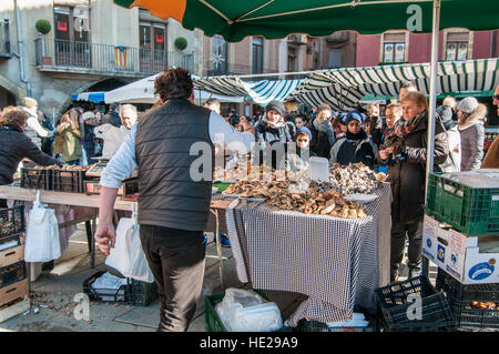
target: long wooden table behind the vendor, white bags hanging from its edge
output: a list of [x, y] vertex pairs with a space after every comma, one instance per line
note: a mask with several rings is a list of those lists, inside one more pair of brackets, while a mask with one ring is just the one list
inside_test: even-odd
[[[85, 222], [90, 223], [91, 225], [86, 224], [86, 236], [89, 239], [89, 249], [91, 253], [91, 260], [90, 260], [90, 266], [95, 266], [95, 242], [92, 242], [93, 234], [96, 230], [96, 218], [98, 218], [98, 210], [99, 210], [99, 195], [88, 195], [82, 193], [68, 193], [68, 192], [55, 192], [55, 191], [45, 191], [45, 190], [30, 190], [24, 189], [20, 186], [12, 186], [12, 185], [0, 185], [0, 199], [10, 199], [10, 200], [18, 200], [18, 201], [24, 201], [24, 202], [34, 202], [37, 199], [37, 192], [40, 192], [40, 201], [44, 204], [65, 204], [65, 205], [72, 205], [72, 206], [88, 206], [93, 209], [93, 213], [89, 215], [88, 218], [81, 218], [78, 220], [73, 220], [72, 222], [64, 223], [64, 226]], [[222, 196], [213, 196], [212, 203], [210, 205], [211, 212], [215, 216], [215, 240], [216, 240], [216, 249], [217, 249], [217, 256], [218, 256], [218, 266], [220, 266], [220, 279], [221, 283], [223, 285], [223, 260], [222, 256], [222, 249], [220, 243], [220, 212], [225, 211], [228, 203], [232, 200], [224, 200]], [[121, 210], [121, 211], [132, 211], [132, 204], [135, 203], [134, 201], [125, 201], [119, 198], [116, 198], [116, 201], [114, 202], [114, 210]], [[60, 224], [61, 226], [61, 224]]]

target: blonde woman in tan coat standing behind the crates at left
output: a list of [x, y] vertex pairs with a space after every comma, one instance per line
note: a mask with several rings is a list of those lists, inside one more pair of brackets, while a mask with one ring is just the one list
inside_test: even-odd
[[57, 130], [64, 139], [62, 161], [67, 164], [80, 164], [80, 159], [82, 158], [81, 140], [84, 136], [84, 128], [80, 123], [79, 110], [72, 108], [65, 112]]

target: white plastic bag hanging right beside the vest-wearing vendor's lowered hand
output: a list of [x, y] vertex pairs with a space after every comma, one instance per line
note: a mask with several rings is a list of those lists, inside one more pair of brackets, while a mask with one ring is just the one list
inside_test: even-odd
[[111, 249], [105, 264], [126, 277], [153, 283], [154, 276], [149, 267], [144, 251], [142, 251], [136, 216], [135, 204], [132, 204], [132, 218], [122, 218], [120, 220], [114, 249]]

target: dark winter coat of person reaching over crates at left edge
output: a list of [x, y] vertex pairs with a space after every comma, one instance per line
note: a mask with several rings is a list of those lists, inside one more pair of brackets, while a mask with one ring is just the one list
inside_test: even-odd
[[22, 159], [40, 165], [59, 164], [43, 153], [20, 128], [0, 128], [0, 185], [12, 183], [13, 174]]

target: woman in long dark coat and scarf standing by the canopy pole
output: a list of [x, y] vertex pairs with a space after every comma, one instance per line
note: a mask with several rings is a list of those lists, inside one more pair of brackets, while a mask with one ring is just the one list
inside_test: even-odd
[[[391, 184], [390, 279], [396, 281], [404, 257], [406, 234], [409, 239], [409, 277], [421, 272], [422, 218], [425, 209], [428, 101], [421, 92], [410, 92], [400, 101], [403, 118], [386, 133], [379, 160], [388, 165]], [[447, 134], [437, 120], [434, 163], [441, 164], [449, 154]]]

